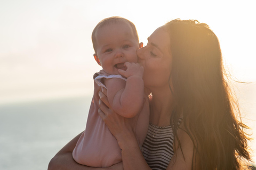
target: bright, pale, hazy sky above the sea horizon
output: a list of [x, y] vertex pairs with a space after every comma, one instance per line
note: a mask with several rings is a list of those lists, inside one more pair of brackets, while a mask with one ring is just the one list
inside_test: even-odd
[[223, 58], [238, 81], [256, 82], [253, 1], [0, 2], [0, 104], [92, 95], [91, 32], [109, 16], [137, 27], [140, 41], [172, 19], [205, 22], [220, 40]]

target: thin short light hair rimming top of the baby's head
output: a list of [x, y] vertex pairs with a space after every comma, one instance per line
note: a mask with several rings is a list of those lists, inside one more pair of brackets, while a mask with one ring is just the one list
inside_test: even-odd
[[137, 29], [131, 21], [129, 21], [125, 18], [122, 18], [120, 16], [111, 16], [109, 18], [105, 18], [105, 19], [101, 20], [92, 31], [92, 45], [93, 45], [93, 49], [94, 49], [95, 53], [96, 53], [96, 47], [97, 47], [97, 39], [96, 39], [95, 34], [98, 31], [98, 29], [100, 29], [106, 25], [116, 24], [116, 23], [127, 23], [128, 25], [130, 25], [132, 28], [133, 35], [138, 40], [138, 43], [139, 43], [139, 36], [138, 36]]

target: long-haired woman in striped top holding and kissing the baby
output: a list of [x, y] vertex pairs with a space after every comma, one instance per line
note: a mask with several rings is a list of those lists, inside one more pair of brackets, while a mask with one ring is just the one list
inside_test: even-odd
[[[173, 20], [156, 29], [137, 54], [145, 69], [145, 87], [152, 94], [149, 132], [142, 153], [131, 122], [126, 123], [134, 120], [114, 113], [100, 92], [108, 107], [100, 100], [99, 114], [122, 149], [123, 165], [110, 169], [243, 169], [250, 160], [247, 127], [237, 119], [239, 108], [224, 77], [219, 41], [209, 27]], [[168, 132], [164, 146], [159, 138]], [[70, 169], [77, 166], [70, 158], [78, 138], [49, 167], [62, 162]]]

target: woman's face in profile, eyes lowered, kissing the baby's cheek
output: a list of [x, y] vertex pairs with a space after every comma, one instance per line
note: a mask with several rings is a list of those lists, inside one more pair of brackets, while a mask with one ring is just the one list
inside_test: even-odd
[[144, 67], [143, 80], [147, 88], [169, 88], [172, 57], [170, 38], [164, 26], [156, 29], [148, 44], [137, 50], [138, 62]]

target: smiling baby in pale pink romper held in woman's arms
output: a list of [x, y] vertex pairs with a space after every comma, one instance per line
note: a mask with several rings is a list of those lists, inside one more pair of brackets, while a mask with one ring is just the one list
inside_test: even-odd
[[94, 95], [86, 129], [73, 151], [77, 163], [92, 167], [109, 167], [122, 162], [121, 149], [98, 114], [98, 92], [107, 89], [111, 108], [124, 117], [138, 115], [135, 132], [139, 145], [146, 137], [149, 123], [148, 97], [144, 93], [143, 67], [138, 62], [139, 44], [135, 25], [124, 18], [102, 20], [92, 32], [95, 61], [102, 66], [94, 74]]

